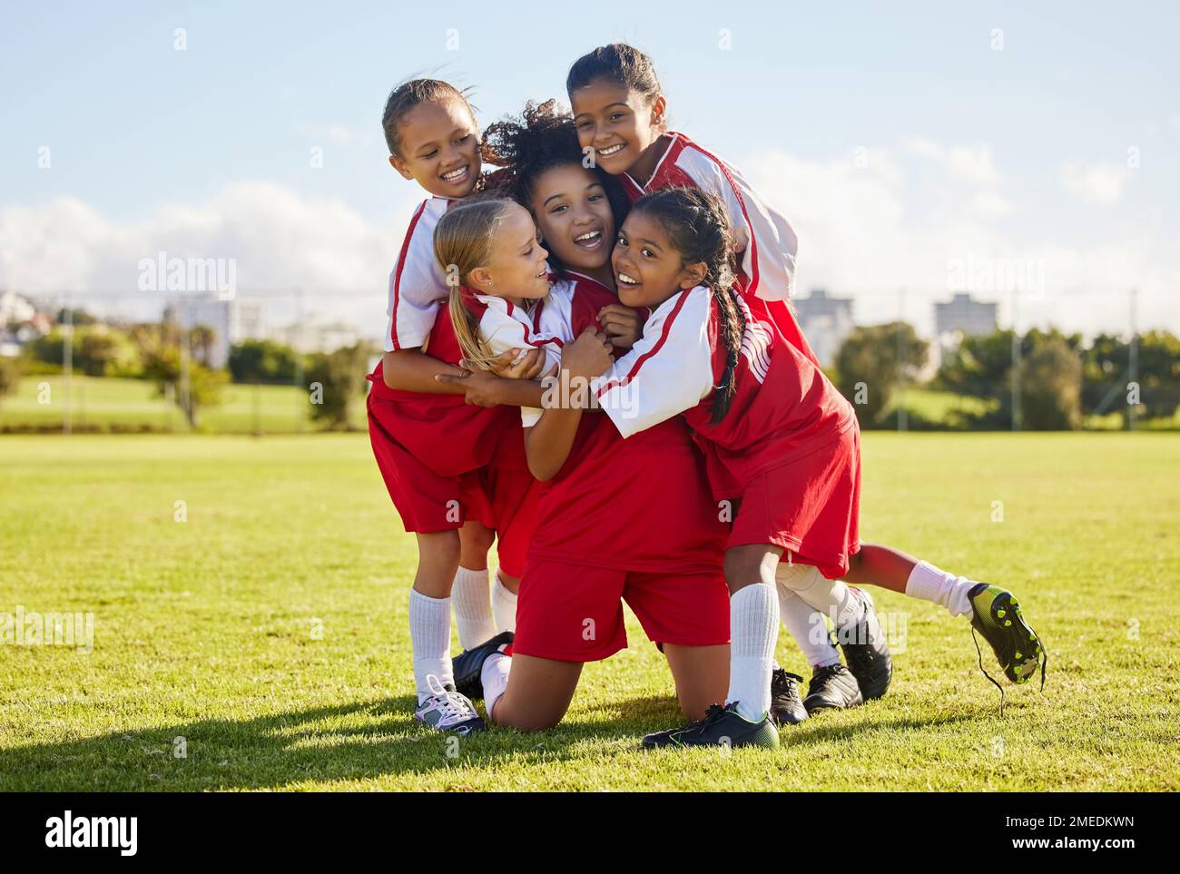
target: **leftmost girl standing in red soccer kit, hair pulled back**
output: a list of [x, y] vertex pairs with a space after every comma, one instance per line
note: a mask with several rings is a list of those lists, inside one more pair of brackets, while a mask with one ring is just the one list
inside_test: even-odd
[[[368, 377], [369, 436], [389, 497], [418, 540], [409, 594], [415, 717], [466, 734], [483, 721], [454, 690], [451, 604], [464, 646], [487, 639], [497, 625], [513, 626], [535, 484], [519, 414], [467, 406], [458, 389], [434, 381], [440, 373], [461, 373], [455, 367], [459, 341], [444, 305], [450, 287], [434, 258], [433, 232], [440, 217], [480, 182], [471, 106], [451, 85], [418, 79], [393, 91], [382, 126], [389, 163], [431, 197], [414, 211], [389, 277], [385, 355]], [[493, 272], [500, 269], [492, 265]], [[533, 355], [522, 370], [535, 361]], [[500, 571], [490, 606], [486, 553], [493, 530]]]

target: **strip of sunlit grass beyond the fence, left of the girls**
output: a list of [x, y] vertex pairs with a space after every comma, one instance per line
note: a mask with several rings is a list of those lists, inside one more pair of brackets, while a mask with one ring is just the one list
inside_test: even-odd
[[[48, 390], [42, 389], [48, 386]], [[72, 399], [72, 425], [111, 429], [151, 428], [184, 432], [181, 409], [156, 394], [145, 380], [74, 376], [72, 386], [64, 376], [24, 376], [11, 397], [0, 400], [0, 428], [5, 426], [60, 427]], [[221, 403], [201, 410], [201, 429], [212, 433], [289, 434], [312, 431], [307, 392], [295, 386], [243, 386], [230, 383], [222, 389]], [[353, 427], [365, 427], [362, 403], [352, 409]]]

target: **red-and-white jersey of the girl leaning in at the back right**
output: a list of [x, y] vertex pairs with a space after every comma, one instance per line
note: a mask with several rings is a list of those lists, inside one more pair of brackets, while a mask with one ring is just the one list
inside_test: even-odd
[[643, 195], [675, 185], [712, 191], [729, 213], [734, 247], [741, 254], [742, 291], [750, 309], [774, 322], [796, 349], [815, 364], [819, 360], [807, 344], [794, 314], [786, 303], [793, 294], [799, 238], [791, 222], [769, 206], [734, 167], [706, 151], [683, 133], [669, 132], [668, 147], [647, 184], [628, 173], [620, 179], [632, 202]]

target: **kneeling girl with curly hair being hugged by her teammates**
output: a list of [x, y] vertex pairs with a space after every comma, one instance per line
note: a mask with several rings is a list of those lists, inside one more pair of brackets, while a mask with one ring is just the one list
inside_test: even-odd
[[[582, 166], [570, 120], [552, 114], [551, 106], [529, 107], [523, 124], [490, 127], [487, 139], [512, 167], [511, 193], [536, 217], [562, 276], [539, 303], [535, 334], [524, 342], [546, 343], [560, 360], [566, 385], [596, 375], [610, 361], [608, 335], [615, 348], [625, 349], [640, 333], [640, 318], [620, 305], [612, 288], [610, 180]], [[440, 257], [454, 257], [461, 247], [451, 249], [451, 243], [461, 244], [466, 236], [442, 243], [450, 225], [458, 224], [451, 218], [437, 232]], [[474, 280], [474, 274], [464, 270], [465, 277]], [[497, 321], [487, 309], [471, 311], [485, 329]], [[504, 330], [513, 331], [511, 326]], [[497, 351], [494, 341], [490, 346], [483, 355]], [[661, 644], [684, 714], [703, 716], [727, 682], [726, 526], [683, 420], [669, 419], [624, 441], [605, 416], [539, 409], [543, 389], [535, 382], [478, 373], [458, 382], [471, 381], [499, 387], [505, 393], [496, 402], [524, 408], [529, 464], [544, 484], [511, 657], [496, 642], [459, 656], [460, 691], [483, 694], [496, 723], [556, 724], [583, 664], [627, 645], [625, 600], [648, 637]]]

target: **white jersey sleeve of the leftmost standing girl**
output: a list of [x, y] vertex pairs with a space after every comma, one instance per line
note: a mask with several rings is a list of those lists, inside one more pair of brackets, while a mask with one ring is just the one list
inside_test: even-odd
[[413, 349], [426, 343], [439, 307], [447, 297], [446, 277], [434, 259], [434, 225], [446, 202], [426, 201], [411, 219], [402, 252], [389, 274], [389, 316], [385, 350]]

